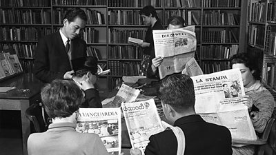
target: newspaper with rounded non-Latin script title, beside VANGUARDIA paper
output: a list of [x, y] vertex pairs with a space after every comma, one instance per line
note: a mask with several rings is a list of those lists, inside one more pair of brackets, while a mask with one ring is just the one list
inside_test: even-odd
[[150, 136], [164, 131], [153, 99], [122, 103], [121, 107], [132, 148], [146, 149]]

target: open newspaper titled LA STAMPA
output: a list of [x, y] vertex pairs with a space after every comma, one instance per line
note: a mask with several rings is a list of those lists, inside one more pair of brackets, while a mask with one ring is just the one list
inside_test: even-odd
[[224, 125], [233, 142], [257, 136], [244, 101], [244, 85], [238, 69], [191, 77], [195, 85], [195, 112], [205, 121]]

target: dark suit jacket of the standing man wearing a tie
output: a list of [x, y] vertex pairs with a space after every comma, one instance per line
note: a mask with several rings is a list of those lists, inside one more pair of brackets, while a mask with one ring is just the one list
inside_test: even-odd
[[[86, 42], [79, 37], [72, 39], [70, 50], [72, 59], [86, 56]], [[63, 79], [63, 75], [72, 70], [59, 31], [39, 39], [34, 57], [34, 73], [43, 82]]]

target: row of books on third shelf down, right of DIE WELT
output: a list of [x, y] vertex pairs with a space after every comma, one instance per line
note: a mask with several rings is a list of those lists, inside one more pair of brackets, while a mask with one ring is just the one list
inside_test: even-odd
[[226, 28], [224, 30], [209, 30], [202, 32], [203, 43], [238, 43], [237, 34]]

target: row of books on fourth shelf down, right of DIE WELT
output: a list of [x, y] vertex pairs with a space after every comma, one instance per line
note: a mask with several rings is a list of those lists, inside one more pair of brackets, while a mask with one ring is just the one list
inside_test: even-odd
[[201, 59], [230, 59], [237, 54], [239, 45], [203, 45]]

